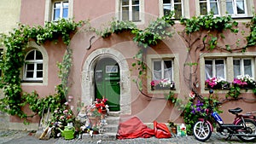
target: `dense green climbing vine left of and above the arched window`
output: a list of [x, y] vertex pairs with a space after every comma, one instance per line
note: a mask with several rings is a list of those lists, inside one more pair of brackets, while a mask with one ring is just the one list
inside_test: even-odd
[[[3, 55], [3, 65], [1, 67], [3, 76], [0, 84], [5, 96], [0, 100], [0, 111], [26, 118], [26, 113], [21, 110], [24, 103], [32, 104], [32, 101], [38, 102], [22, 98], [22, 89], [20, 87], [20, 71], [24, 65], [24, 50], [27, 48], [28, 42], [35, 41], [38, 44], [43, 44], [46, 41], [53, 41], [57, 43], [59, 37], [61, 37], [63, 43], [68, 45], [71, 35], [84, 23], [86, 21], [74, 22], [73, 20], [61, 19], [55, 22], [47, 22], [44, 27], [30, 27], [20, 24], [13, 32], [1, 35], [6, 51]], [[32, 93], [32, 95], [34, 95], [32, 96], [34, 98], [37, 97], [36, 93]]]

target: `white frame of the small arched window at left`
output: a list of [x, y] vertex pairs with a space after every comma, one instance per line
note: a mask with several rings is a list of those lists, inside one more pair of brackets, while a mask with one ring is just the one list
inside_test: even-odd
[[[36, 52], [37, 51], [41, 53], [43, 60], [36, 60]], [[30, 53], [34, 53], [34, 60], [26, 60], [26, 56]], [[43, 78], [44, 78], [44, 56], [43, 56], [42, 52], [39, 51], [38, 49], [32, 49], [32, 50], [30, 50], [29, 52], [26, 53], [26, 56], [25, 56], [23, 80], [28, 80], [28, 81], [38, 81], [38, 80], [40, 80], [40, 81], [43, 81]], [[33, 78], [26, 78], [27, 64], [34, 64]], [[43, 70], [40, 70], [43, 73], [42, 78], [37, 77], [37, 72], [38, 72], [38, 69], [37, 69], [38, 66], [37, 65], [38, 64], [43, 65]]]

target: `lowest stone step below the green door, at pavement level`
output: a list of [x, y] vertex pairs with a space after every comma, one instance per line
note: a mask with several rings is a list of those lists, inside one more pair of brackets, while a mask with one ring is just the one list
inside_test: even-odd
[[116, 140], [116, 133], [102, 133], [102, 134], [96, 134], [96, 135], [92, 135], [90, 136], [90, 134], [88, 133], [84, 133], [82, 135], [82, 139], [86, 139], [86, 140], [108, 140], [108, 141], [112, 141], [112, 140]]

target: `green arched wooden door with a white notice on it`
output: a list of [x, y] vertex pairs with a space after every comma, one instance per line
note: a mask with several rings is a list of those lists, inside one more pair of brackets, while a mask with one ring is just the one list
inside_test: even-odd
[[108, 99], [110, 111], [119, 111], [120, 101], [120, 73], [118, 63], [111, 58], [99, 60], [95, 68], [96, 98]]

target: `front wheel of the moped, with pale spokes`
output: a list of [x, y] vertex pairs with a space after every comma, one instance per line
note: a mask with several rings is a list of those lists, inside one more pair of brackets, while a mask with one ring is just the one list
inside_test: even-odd
[[193, 127], [193, 134], [198, 141], [207, 141], [212, 135], [211, 127], [205, 122], [198, 121]]

